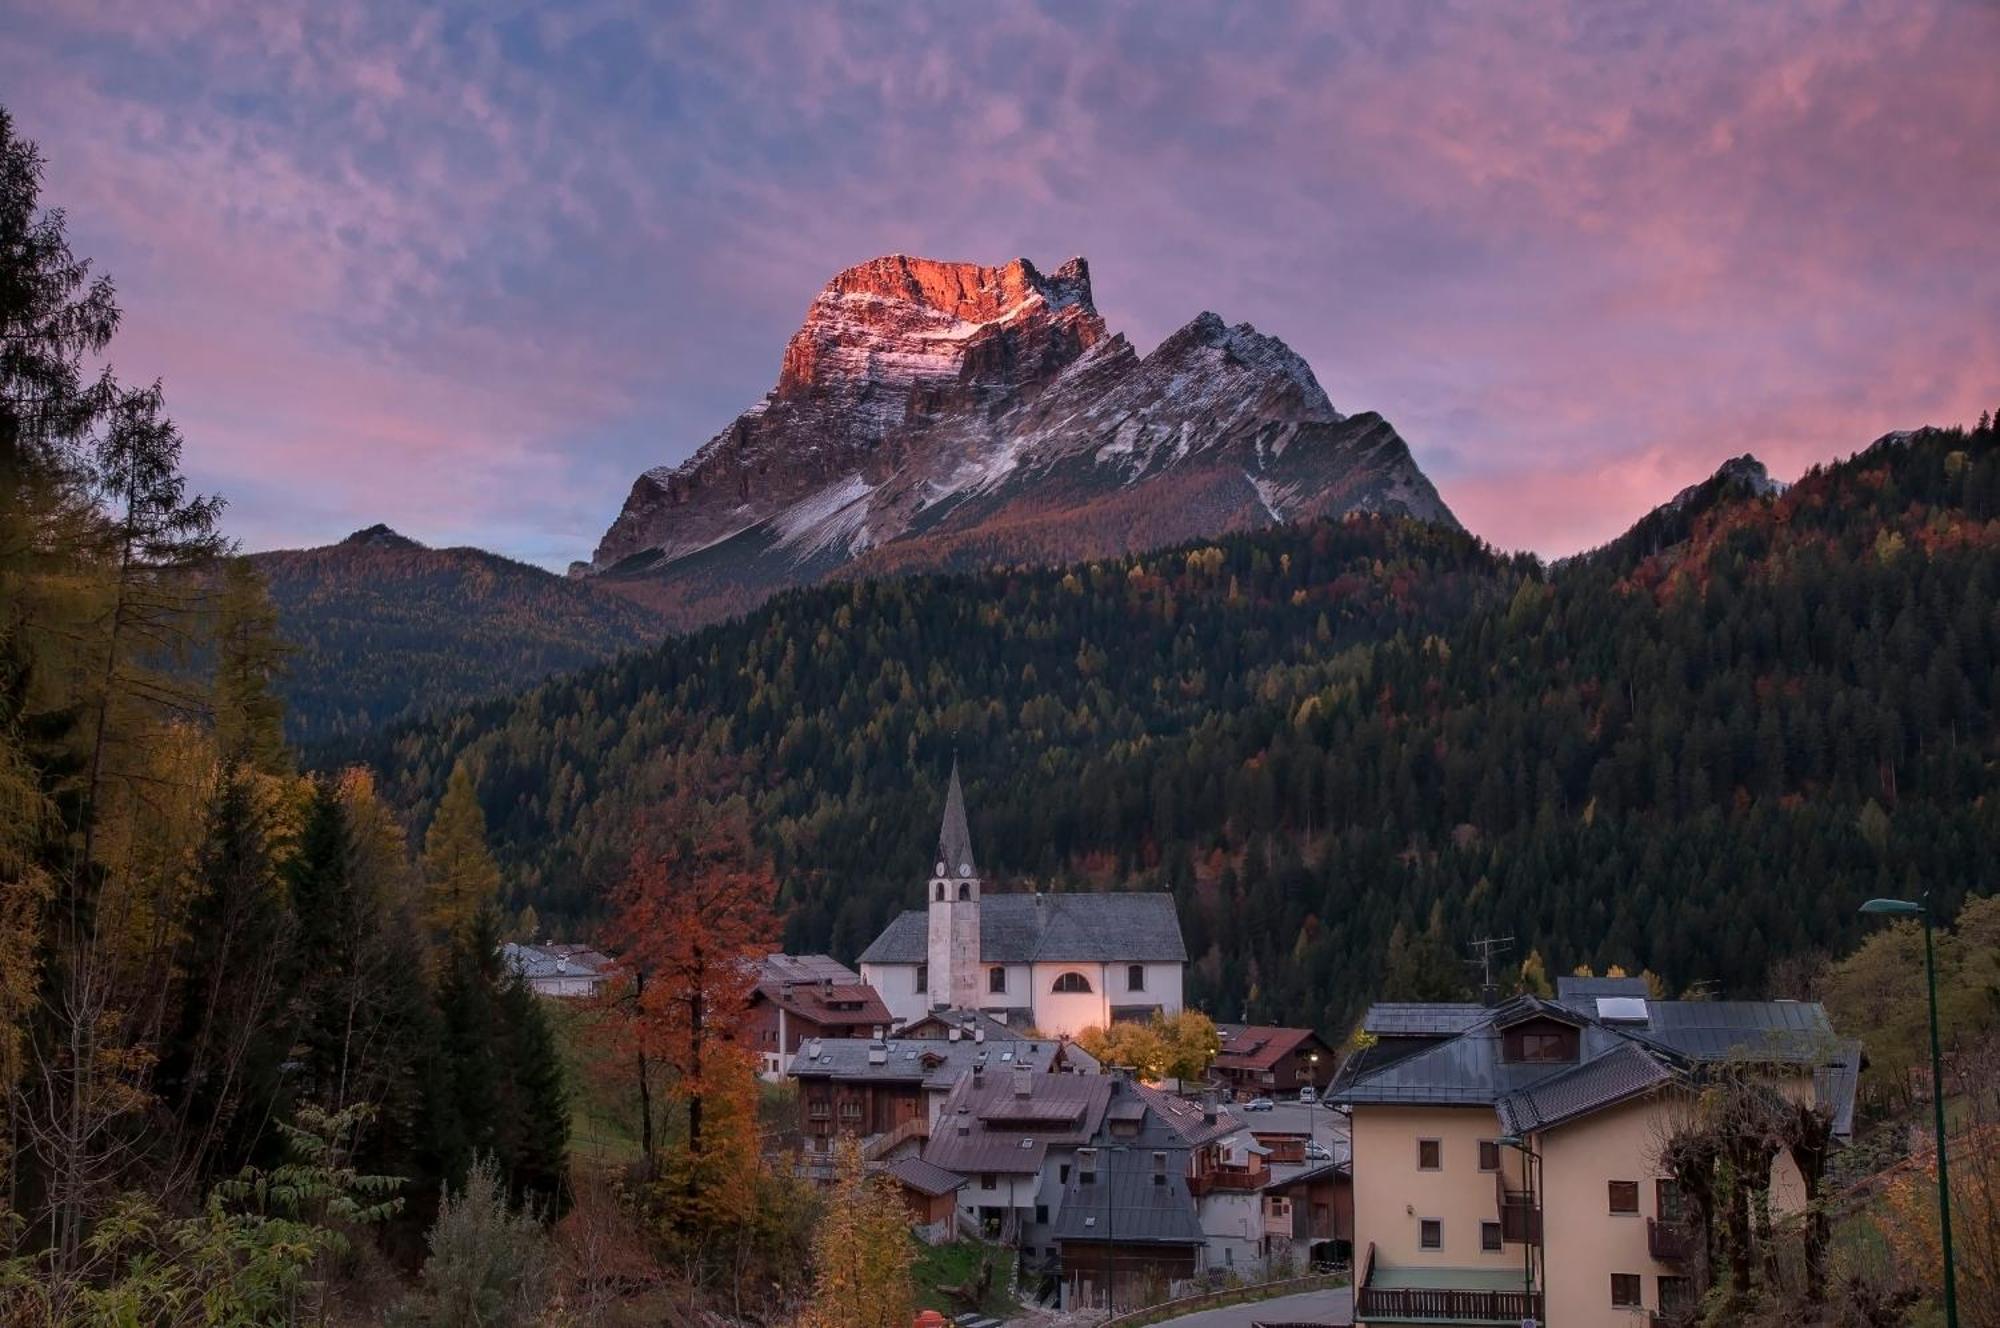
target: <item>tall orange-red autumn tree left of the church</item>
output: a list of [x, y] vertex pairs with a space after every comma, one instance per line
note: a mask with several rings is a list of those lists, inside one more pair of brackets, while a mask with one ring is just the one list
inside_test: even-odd
[[666, 1174], [694, 1220], [746, 1194], [756, 1166], [756, 1048], [750, 992], [778, 936], [776, 880], [750, 842], [742, 798], [676, 798], [648, 818], [616, 896], [610, 940], [626, 982], [616, 1028], [638, 1068], [646, 1166], [662, 1174], [650, 1072], [664, 1070], [684, 1112]]

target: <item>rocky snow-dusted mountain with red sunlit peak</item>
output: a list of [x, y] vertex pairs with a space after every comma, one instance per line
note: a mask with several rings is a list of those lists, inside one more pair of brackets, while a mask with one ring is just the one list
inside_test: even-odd
[[1352, 510], [1456, 526], [1408, 446], [1284, 342], [1200, 314], [1152, 354], [1090, 268], [890, 256], [818, 294], [778, 384], [632, 486], [588, 564], [690, 626], [830, 574], [1100, 558]]

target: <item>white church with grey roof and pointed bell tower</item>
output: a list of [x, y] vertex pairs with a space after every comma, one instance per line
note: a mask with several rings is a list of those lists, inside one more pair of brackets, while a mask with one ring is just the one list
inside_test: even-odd
[[956, 760], [924, 908], [860, 958], [898, 1026], [982, 1010], [1046, 1036], [1176, 1014], [1186, 966], [1170, 894], [986, 894]]

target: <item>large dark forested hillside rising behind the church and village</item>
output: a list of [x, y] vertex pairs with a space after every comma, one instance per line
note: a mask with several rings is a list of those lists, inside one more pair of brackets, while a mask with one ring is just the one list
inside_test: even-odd
[[544, 916], [702, 778], [752, 796], [788, 940], [852, 956], [916, 902], [956, 748], [982, 862], [1172, 888], [1224, 1014], [1338, 1024], [1432, 924], [1750, 992], [1868, 894], [2000, 884], [1996, 518], [1982, 422], [1554, 574], [1348, 520], [824, 588], [376, 756], [418, 806], [470, 758]]

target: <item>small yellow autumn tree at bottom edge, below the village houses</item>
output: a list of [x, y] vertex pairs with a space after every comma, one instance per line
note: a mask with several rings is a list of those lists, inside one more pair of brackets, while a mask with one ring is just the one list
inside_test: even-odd
[[812, 1234], [812, 1308], [800, 1328], [902, 1328], [914, 1314], [910, 1214], [860, 1144], [834, 1148], [834, 1188]]

